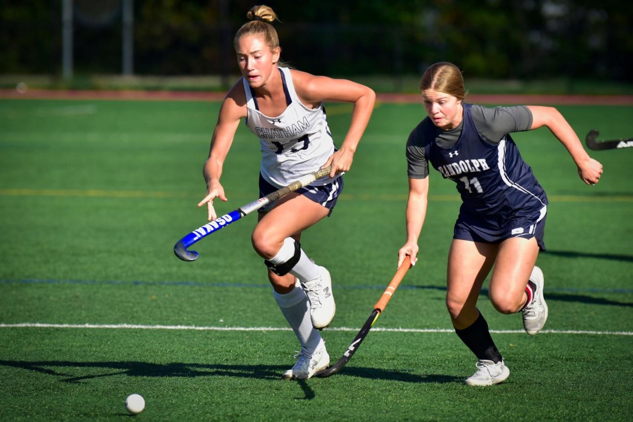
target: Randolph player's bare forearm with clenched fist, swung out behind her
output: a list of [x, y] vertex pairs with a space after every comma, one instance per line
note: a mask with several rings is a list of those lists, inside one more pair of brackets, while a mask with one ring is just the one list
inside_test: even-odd
[[567, 148], [578, 168], [578, 175], [587, 185], [595, 185], [602, 174], [602, 164], [589, 157], [573, 128], [560, 112], [553, 107], [528, 106], [532, 112], [532, 128], [548, 127], [552, 134]]

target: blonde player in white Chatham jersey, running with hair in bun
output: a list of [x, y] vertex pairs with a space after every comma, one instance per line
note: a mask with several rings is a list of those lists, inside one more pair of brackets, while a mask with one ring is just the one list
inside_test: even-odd
[[[242, 120], [261, 144], [260, 197], [319, 168], [332, 166], [328, 178], [289, 194], [259, 214], [252, 241], [265, 259], [273, 295], [301, 344], [298, 361], [285, 379], [310, 378], [327, 368], [330, 357], [317, 330], [334, 318], [329, 272], [306, 256], [301, 232], [332, 212], [342, 189], [343, 171], [351, 167], [356, 146], [367, 127], [374, 92], [349, 80], [335, 80], [278, 66], [277, 19], [268, 6], [254, 6], [235, 34], [234, 47], [242, 77], [222, 102], [203, 174], [208, 194], [198, 206], [227, 201], [220, 175], [235, 130]], [[353, 102], [351, 123], [340, 149], [335, 150], [322, 101]], [[315, 329], [316, 328], [316, 329]]]

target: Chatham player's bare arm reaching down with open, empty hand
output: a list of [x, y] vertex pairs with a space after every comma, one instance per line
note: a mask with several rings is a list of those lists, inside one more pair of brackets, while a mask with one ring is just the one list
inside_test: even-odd
[[[238, 91], [238, 93], [236, 94], [235, 91]], [[242, 101], [236, 101], [236, 97], [239, 97], [237, 84], [230, 90], [229, 95], [222, 102], [218, 123], [215, 125], [215, 130], [213, 130], [213, 137], [211, 137], [209, 158], [206, 159], [203, 166], [207, 195], [198, 203], [198, 206], [207, 205], [208, 219], [210, 221], [217, 218], [217, 214], [213, 208], [213, 199], [219, 197], [222, 201], [227, 201], [224, 188], [220, 183], [222, 166], [233, 143], [235, 130], [237, 130], [241, 118], [246, 116], [246, 107], [239, 104], [239, 102]]]

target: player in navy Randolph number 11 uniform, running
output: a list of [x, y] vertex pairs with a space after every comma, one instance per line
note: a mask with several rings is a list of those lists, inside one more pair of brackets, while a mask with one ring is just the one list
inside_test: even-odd
[[482, 283], [492, 270], [489, 295], [500, 313], [521, 311], [530, 335], [548, 317], [543, 274], [536, 258], [543, 242], [548, 199], [521, 158], [511, 132], [546, 126], [567, 148], [583, 182], [598, 183], [602, 165], [590, 158], [555, 108], [484, 108], [465, 104], [460, 70], [436, 63], [425, 71], [420, 92], [427, 117], [406, 146], [409, 199], [406, 244], [398, 252], [415, 264], [429, 192], [429, 163], [457, 184], [463, 201], [448, 254], [446, 306], [455, 332], [477, 356], [468, 385], [492, 385], [510, 375], [484, 317], [477, 309]]

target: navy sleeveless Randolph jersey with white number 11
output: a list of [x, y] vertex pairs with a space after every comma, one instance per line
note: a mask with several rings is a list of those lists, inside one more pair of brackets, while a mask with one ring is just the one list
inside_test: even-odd
[[498, 144], [488, 142], [475, 127], [471, 108], [472, 104], [463, 104], [461, 135], [451, 148], [437, 144], [438, 128], [430, 121], [424, 125], [425, 156], [444, 178], [456, 183], [463, 201], [460, 213], [501, 223], [532, 214], [548, 204], [532, 168], [523, 161], [510, 135]]

